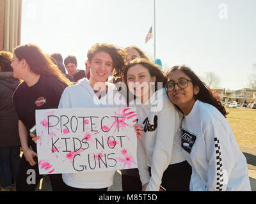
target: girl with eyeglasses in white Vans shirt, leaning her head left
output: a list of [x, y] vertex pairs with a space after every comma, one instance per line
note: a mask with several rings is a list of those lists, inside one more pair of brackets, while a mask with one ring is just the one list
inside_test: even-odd
[[251, 191], [246, 158], [211, 90], [184, 66], [167, 71], [165, 89], [184, 113], [181, 147], [192, 166], [190, 191]]

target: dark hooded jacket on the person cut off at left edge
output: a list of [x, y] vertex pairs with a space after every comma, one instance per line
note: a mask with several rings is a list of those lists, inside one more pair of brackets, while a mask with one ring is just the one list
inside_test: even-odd
[[0, 147], [20, 145], [18, 117], [12, 102], [19, 84], [13, 72], [0, 72]]

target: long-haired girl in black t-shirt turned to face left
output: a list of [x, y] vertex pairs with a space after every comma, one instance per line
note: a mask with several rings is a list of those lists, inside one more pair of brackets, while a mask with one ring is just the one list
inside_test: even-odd
[[[29, 136], [29, 129], [35, 126], [35, 110], [58, 108], [62, 92], [72, 83], [37, 45], [20, 45], [13, 52], [13, 77], [24, 80], [13, 93], [23, 150], [16, 187], [17, 191], [35, 191], [43, 177], [36, 164], [36, 145]], [[28, 182], [29, 175], [35, 175], [33, 182]], [[49, 178], [53, 191], [63, 190], [61, 174], [49, 175]]]

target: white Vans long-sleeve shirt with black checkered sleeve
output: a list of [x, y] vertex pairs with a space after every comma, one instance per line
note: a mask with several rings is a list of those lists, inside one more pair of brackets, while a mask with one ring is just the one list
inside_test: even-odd
[[246, 158], [217, 108], [197, 100], [182, 120], [181, 141], [190, 191], [251, 191]]

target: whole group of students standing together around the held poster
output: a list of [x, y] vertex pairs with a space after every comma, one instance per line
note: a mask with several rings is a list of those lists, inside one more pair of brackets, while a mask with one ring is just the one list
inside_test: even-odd
[[[17, 191], [35, 191], [42, 178], [35, 144], [40, 136], [29, 135], [35, 110], [126, 106], [137, 110], [138, 168], [121, 171], [123, 191], [251, 190], [246, 158], [225, 108], [190, 68], [174, 66], [164, 73], [140, 48], [106, 43], [88, 50], [85, 66], [77, 70], [73, 55], [63, 65], [60, 54], [46, 55], [34, 44], [20, 45], [13, 54], [0, 52], [2, 191], [12, 184]], [[113, 100], [116, 96], [120, 100]], [[27, 180], [31, 169], [33, 184]], [[114, 173], [49, 178], [52, 191], [108, 191]]]

